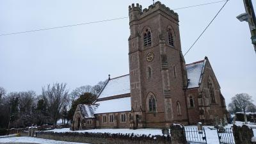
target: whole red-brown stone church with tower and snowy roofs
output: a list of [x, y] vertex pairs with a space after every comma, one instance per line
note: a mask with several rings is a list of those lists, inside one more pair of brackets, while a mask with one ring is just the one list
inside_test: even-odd
[[186, 64], [179, 16], [159, 1], [129, 6], [129, 74], [110, 78], [93, 104], [79, 104], [72, 129], [226, 122], [220, 84], [207, 57]]

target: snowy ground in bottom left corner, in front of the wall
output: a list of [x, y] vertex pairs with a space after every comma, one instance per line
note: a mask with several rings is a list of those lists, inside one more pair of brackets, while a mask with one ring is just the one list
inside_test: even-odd
[[66, 142], [66, 141], [47, 140], [42, 138], [32, 138], [32, 137], [26, 137], [26, 136], [14, 137], [14, 138], [0, 138], [0, 143], [86, 144], [86, 143], [72, 143], [72, 142]]

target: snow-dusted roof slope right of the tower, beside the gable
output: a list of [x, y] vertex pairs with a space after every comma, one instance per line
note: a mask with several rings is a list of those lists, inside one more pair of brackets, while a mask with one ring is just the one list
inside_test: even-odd
[[186, 65], [188, 73], [188, 88], [196, 88], [202, 81], [202, 72], [204, 72], [205, 61], [197, 61]]

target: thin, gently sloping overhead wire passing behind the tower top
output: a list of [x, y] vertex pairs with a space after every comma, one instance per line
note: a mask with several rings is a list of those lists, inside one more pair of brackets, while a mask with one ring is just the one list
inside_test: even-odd
[[[197, 4], [197, 5], [193, 5], [193, 6], [185, 6], [182, 8], [175, 8], [173, 10], [181, 10], [181, 9], [185, 9], [185, 8], [193, 8], [196, 6], [204, 6], [207, 4], [214, 4], [214, 3], [222, 3], [229, 0], [223, 0], [223, 1], [215, 1], [212, 3], [204, 3], [204, 4]], [[99, 20], [99, 21], [95, 21], [95, 22], [84, 22], [84, 23], [80, 23], [80, 24], [71, 24], [71, 25], [67, 25], [67, 26], [58, 26], [58, 27], [52, 27], [52, 28], [42, 28], [42, 29], [34, 29], [31, 31], [19, 31], [19, 32], [14, 32], [14, 33], [4, 33], [1, 34], [0, 36], [7, 36], [7, 35], [17, 35], [17, 34], [21, 34], [21, 33], [32, 33], [32, 32], [36, 32], [36, 31], [45, 31], [45, 30], [50, 30], [50, 29], [60, 29], [60, 28], [68, 28], [68, 27], [73, 27], [73, 26], [82, 26], [82, 25], [86, 25], [86, 24], [95, 24], [95, 23], [100, 23], [100, 22], [108, 22], [108, 21], [112, 21], [112, 20], [120, 20], [120, 19], [128, 19], [129, 17], [119, 17], [119, 18], [115, 18], [115, 19], [107, 19], [107, 20]]]

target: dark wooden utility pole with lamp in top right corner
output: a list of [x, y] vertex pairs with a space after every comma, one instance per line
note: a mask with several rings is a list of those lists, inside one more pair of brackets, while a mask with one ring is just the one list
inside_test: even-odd
[[254, 51], [256, 52], [256, 18], [255, 13], [253, 10], [252, 0], [243, 0], [244, 1], [244, 8], [245, 12], [239, 16], [237, 16], [237, 19], [239, 19], [241, 22], [246, 21], [249, 24], [249, 28], [251, 31], [251, 39], [252, 44], [254, 47]]

